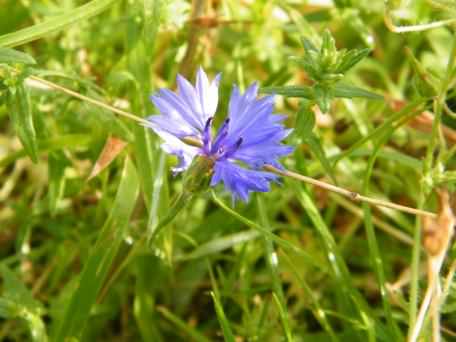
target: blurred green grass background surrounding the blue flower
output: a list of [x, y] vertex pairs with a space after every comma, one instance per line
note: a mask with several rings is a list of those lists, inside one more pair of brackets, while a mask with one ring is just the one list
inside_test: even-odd
[[[36, 60], [14, 64], [25, 76], [141, 117], [156, 113], [150, 94], [174, 89], [177, 73], [222, 72], [220, 119], [233, 83], [308, 85], [290, 57], [304, 54], [301, 36], [318, 42], [329, 29], [340, 49], [372, 49], [345, 80], [384, 100], [314, 108], [284, 164], [435, 212], [432, 190], [451, 192], [456, 181], [454, 32], [393, 33], [384, 6], [397, 25], [456, 13], [444, 0], [2, 0], [0, 46]], [[5, 70], [0, 82], [11, 80]], [[436, 95], [428, 79], [448, 89]], [[247, 205], [231, 207], [221, 188], [199, 196], [143, 244], [182, 190], [176, 160], [135, 122], [15, 80], [16, 102], [11, 84], [0, 87], [0, 340], [404, 340], [426, 286], [419, 219], [286, 179]], [[432, 133], [436, 96], [445, 111]], [[276, 109], [295, 126], [297, 99], [277, 96]], [[126, 146], [88, 179], [113, 137]], [[456, 340], [449, 284], [447, 341]]]

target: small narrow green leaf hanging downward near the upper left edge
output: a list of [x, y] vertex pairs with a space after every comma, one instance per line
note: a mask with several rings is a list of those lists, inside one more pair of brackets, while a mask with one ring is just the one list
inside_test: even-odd
[[33, 162], [38, 161], [38, 144], [33, 124], [30, 95], [24, 84], [20, 84], [8, 92], [8, 107], [19, 139]]

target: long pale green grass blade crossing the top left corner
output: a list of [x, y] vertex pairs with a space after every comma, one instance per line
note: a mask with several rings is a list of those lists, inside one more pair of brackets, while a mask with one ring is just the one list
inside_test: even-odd
[[51, 32], [60, 31], [78, 21], [93, 17], [107, 9], [117, 0], [93, 0], [64, 14], [22, 30], [0, 36], [0, 46], [14, 47], [42, 38]]

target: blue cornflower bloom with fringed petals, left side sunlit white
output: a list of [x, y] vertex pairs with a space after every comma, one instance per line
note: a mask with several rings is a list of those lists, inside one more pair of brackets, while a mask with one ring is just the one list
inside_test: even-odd
[[[213, 162], [211, 186], [223, 182], [233, 200], [248, 201], [252, 191], [267, 192], [277, 175], [261, 171], [265, 164], [281, 167], [278, 158], [293, 148], [281, 144], [291, 132], [281, 123], [283, 115], [274, 115], [274, 96], [257, 99], [258, 84], [244, 94], [234, 86], [228, 117], [213, 137], [211, 134], [218, 103], [220, 74], [209, 82], [199, 69], [196, 84], [177, 76], [177, 92], [160, 89], [151, 97], [160, 115], [148, 118], [152, 128], [163, 140], [162, 148], [179, 158], [174, 172], [186, 170], [193, 158], [202, 156]], [[192, 137], [202, 147], [185, 144], [181, 139]]]

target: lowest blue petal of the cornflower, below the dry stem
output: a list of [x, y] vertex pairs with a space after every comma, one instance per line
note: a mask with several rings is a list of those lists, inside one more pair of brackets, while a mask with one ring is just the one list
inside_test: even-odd
[[223, 181], [225, 189], [231, 192], [234, 201], [241, 199], [247, 202], [250, 192], [268, 192], [269, 183], [277, 179], [277, 175], [273, 173], [245, 169], [229, 161], [217, 161], [211, 186]]

